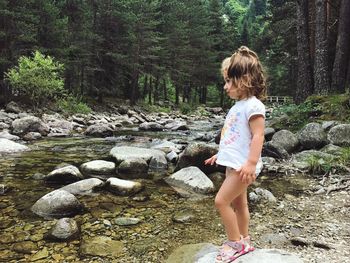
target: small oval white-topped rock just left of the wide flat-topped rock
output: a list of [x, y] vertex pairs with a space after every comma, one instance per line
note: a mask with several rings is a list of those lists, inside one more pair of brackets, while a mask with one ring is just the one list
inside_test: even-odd
[[100, 179], [106, 179], [115, 174], [115, 163], [104, 160], [94, 160], [80, 166], [83, 174]]

